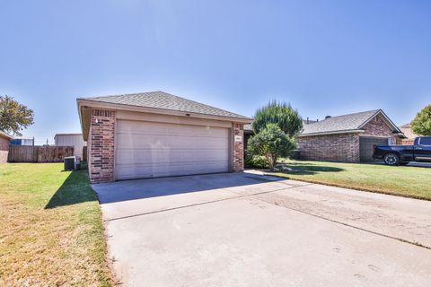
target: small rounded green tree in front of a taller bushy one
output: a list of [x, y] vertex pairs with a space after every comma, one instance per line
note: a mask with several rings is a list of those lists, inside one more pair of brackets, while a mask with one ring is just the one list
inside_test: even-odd
[[288, 136], [276, 124], [268, 124], [257, 135], [251, 137], [247, 152], [251, 155], [264, 156], [271, 171], [276, 166], [277, 159], [289, 156], [296, 148], [295, 139]]

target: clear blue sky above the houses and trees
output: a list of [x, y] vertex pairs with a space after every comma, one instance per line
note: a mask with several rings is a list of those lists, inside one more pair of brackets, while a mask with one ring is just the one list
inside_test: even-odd
[[162, 90], [252, 116], [431, 103], [431, 1], [0, 0], [0, 94], [36, 143], [80, 132], [77, 97]]

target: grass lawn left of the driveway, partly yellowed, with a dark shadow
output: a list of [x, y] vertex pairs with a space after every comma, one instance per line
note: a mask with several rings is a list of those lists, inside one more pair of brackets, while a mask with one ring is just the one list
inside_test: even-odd
[[0, 286], [111, 286], [101, 210], [85, 170], [0, 165]]

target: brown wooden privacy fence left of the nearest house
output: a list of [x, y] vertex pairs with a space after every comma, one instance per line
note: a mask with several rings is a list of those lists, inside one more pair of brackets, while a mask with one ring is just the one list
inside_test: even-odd
[[9, 162], [61, 162], [74, 155], [73, 146], [9, 145]]

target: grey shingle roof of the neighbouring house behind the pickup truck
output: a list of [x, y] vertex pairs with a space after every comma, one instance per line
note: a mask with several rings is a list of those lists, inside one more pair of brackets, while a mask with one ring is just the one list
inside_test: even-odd
[[300, 136], [361, 132], [362, 127], [379, 114], [386, 119], [388, 125], [392, 126], [394, 131], [400, 132], [400, 129], [392, 123], [382, 109], [374, 109], [355, 114], [328, 117], [312, 124], [303, 125], [303, 132]]

